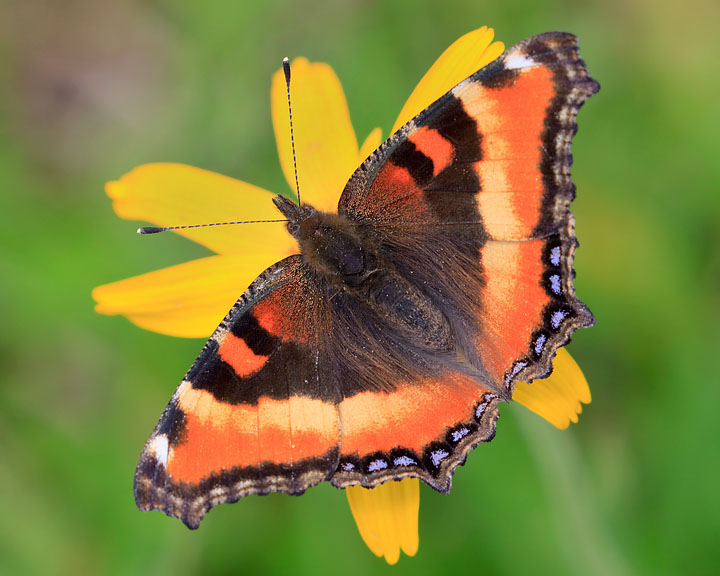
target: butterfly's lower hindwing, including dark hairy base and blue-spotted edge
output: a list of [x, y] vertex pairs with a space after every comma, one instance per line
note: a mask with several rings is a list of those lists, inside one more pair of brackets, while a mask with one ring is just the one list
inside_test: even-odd
[[342, 391], [331, 482], [373, 487], [418, 477], [449, 491], [468, 451], [495, 435], [503, 391], [462, 362], [446, 316], [390, 262], [380, 263], [370, 289], [335, 294], [329, 306], [327, 346]]

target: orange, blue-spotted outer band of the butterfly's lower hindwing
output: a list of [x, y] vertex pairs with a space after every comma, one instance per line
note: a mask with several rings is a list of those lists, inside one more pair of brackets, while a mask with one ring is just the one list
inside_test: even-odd
[[331, 482], [373, 487], [415, 477], [447, 493], [467, 453], [495, 436], [497, 402], [474, 378], [447, 369], [347, 397], [338, 406], [342, 445]]

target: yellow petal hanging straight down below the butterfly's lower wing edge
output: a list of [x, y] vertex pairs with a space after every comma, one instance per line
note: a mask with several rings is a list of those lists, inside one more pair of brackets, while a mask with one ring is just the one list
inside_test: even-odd
[[346, 489], [360, 536], [375, 556], [395, 564], [400, 550], [415, 556], [418, 549], [420, 484], [417, 478], [386, 482], [368, 490]]

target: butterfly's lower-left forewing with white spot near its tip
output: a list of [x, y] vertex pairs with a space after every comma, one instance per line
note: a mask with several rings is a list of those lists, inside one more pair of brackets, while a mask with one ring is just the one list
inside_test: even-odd
[[260, 275], [212, 335], [135, 473], [141, 510], [197, 528], [222, 502], [300, 494], [338, 464], [339, 392], [320, 342], [323, 299], [300, 256]]

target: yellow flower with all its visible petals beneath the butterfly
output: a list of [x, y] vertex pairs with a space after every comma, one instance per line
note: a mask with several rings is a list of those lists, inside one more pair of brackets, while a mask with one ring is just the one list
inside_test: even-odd
[[[413, 91], [393, 131], [455, 84], [497, 58], [504, 46], [483, 27], [448, 48]], [[340, 82], [326, 64], [298, 58], [292, 63], [293, 120], [297, 167], [304, 202], [324, 211], [337, 210], [340, 193], [352, 172], [380, 144], [380, 129], [358, 145]], [[272, 117], [285, 177], [294, 190], [287, 97], [281, 71], [273, 76]], [[140, 166], [107, 184], [118, 216], [158, 226], [228, 220], [277, 219], [273, 194], [246, 182], [179, 164]], [[214, 252], [213, 256], [93, 291], [96, 311], [120, 314], [156, 332], [208, 337], [245, 288], [269, 265], [298, 252], [284, 223], [246, 224], [177, 230]], [[262, 237], [258, 243], [257, 238]], [[580, 402], [590, 391], [577, 364], [558, 352], [550, 378], [532, 387], [518, 383], [514, 399], [555, 426], [577, 421]], [[400, 550], [418, 548], [419, 482], [388, 482], [372, 490], [346, 490], [360, 534], [377, 556], [394, 564]]]

